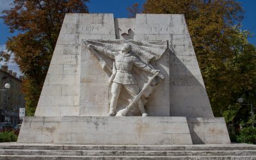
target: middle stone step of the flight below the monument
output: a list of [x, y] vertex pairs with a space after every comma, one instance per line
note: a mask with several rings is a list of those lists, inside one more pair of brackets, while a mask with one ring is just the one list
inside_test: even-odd
[[256, 150], [207, 150], [207, 151], [159, 151], [159, 150], [0, 150], [0, 155], [33, 156], [256, 156]]

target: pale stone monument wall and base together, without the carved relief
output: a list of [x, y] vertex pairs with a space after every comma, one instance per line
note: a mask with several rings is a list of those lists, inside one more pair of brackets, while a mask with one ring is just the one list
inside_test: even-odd
[[[157, 118], [105, 117], [112, 96], [109, 74], [83, 40], [119, 38], [154, 43], [168, 40], [169, 49], [159, 60], [150, 61], [165, 77], [145, 103], [148, 116]], [[138, 81], [141, 72], [132, 74]], [[138, 81], [139, 86], [144, 83]], [[19, 142], [198, 144], [230, 140], [223, 119], [212, 114], [183, 15], [138, 14], [136, 19], [114, 19], [113, 14], [70, 13], [63, 21], [35, 117], [24, 120]]]

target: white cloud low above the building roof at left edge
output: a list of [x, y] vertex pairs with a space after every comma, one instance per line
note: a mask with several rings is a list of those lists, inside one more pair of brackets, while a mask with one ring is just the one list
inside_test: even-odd
[[[0, 0], [1, 1], [1, 0]], [[0, 52], [1, 51], [6, 51], [6, 45], [2, 44], [0, 45]], [[16, 72], [17, 76], [19, 77], [21, 74], [20, 69], [17, 65], [17, 63], [15, 63], [15, 61], [13, 61], [13, 54], [11, 55], [10, 61], [7, 62], [8, 65], [8, 70], [12, 70], [12, 72]], [[5, 61], [0, 61], [0, 65], [6, 65]]]

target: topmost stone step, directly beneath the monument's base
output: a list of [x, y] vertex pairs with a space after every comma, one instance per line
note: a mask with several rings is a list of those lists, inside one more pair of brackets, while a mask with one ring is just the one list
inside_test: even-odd
[[0, 143], [1, 149], [23, 150], [256, 150], [256, 145], [53, 145]]

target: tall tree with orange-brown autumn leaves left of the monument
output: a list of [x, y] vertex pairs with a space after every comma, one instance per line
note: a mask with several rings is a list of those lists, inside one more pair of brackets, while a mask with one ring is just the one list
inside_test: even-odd
[[[10, 31], [19, 31], [6, 42], [8, 52], [24, 73], [22, 90], [26, 113], [31, 116], [40, 97], [52, 52], [60, 33], [65, 13], [88, 13], [88, 0], [15, 0], [13, 8], [4, 10], [4, 23]], [[2, 58], [8, 58], [2, 52]]]

